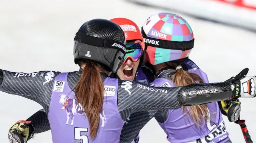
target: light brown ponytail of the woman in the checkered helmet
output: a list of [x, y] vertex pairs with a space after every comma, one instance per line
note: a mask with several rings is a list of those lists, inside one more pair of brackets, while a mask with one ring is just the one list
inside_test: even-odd
[[[177, 67], [180, 64], [178, 65], [176, 63], [166, 62], [165, 65], [168, 67]], [[176, 87], [181, 87], [192, 83], [204, 82], [199, 75], [195, 73], [186, 72], [182, 68], [177, 69], [176, 73], [173, 75], [173, 79], [170, 80], [172, 80], [175, 83]], [[182, 106], [182, 109], [183, 111], [185, 111], [187, 117], [189, 114], [191, 115], [191, 118], [193, 119], [194, 123], [198, 126], [202, 126], [205, 124], [205, 117], [207, 119], [210, 118], [206, 104], [189, 106], [189, 111], [185, 106]]]

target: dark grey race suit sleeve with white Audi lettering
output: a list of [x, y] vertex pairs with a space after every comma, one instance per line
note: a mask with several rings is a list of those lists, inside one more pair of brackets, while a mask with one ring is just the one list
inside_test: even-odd
[[42, 105], [48, 113], [53, 81], [60, 72], [18, 73], [0, 70], [0, 75], [1, 73], [3, 80], [0, 84], [0, 91], [31, 99]]

